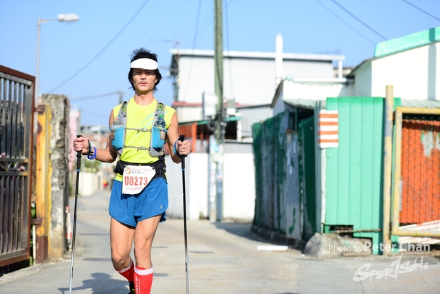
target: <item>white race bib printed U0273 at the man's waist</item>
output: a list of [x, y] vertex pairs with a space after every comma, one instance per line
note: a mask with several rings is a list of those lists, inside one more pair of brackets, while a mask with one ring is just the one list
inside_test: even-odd
[[130, 195], [140, 193], [155, 174], [155, 169], [148, 165], [127, 165], [122, 178], [122, 193]]

